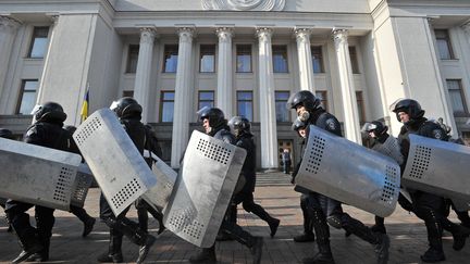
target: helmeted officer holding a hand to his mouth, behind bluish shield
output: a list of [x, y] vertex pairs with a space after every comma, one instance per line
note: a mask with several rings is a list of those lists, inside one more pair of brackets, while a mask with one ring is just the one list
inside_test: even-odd
[[[342, 136], [341, 125], [336, 117], [320, 106], [320, 100], [310, 91], [301, 90], [294, 93], [287, 101], [287, 108], [294, 109], [298, 117], [308, 125], [314, 125], [326, 131]], [[341, 202], [326, 196], [311, 192], [307, 206], [313, 221], [319, 253], [304, 260], [305, 263], [334, 263], [330, 247], [327, 224], [335, 228], [344, 228], [374, 246], [378, 263], [388, 260], [389, 239], [386, 235], [373, 232], [360, 221], [343, 212]], [[327, 223], [327, 224], [326, 224]]]

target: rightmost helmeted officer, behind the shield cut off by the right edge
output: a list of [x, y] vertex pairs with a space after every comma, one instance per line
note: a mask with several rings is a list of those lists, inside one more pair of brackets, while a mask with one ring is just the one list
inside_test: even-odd
[[[424, 110], [418, 101], [412, 99], [401, 99], [392, 105], [392, 111], [396, 114], [398, 122], [403, 123], [398, 135], [398, 142], [404, 155], [401, 172], [406, 167], [409, 153], [409, 135], [416, 134], [437, 140], [447, 140], [446, 131], [434, 122], [424, 117]], [[468, 230], [458, 226], [444, 216], [444, 198], [420, 190], [410, 190], [412, 201], [412, 212], [424, 221], [428, 231], [429, 249], [421, 255], [423, 262], [440, 262], [445, 260], [442, 246], [443, 228], [450, 230], [454, 237], [455, 250], [461, 250], [465, 246]]]

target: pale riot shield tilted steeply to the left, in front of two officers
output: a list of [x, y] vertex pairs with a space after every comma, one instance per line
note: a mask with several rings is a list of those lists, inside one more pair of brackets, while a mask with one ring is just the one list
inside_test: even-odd
[[111, 110], [96, 111], [78, 126], [73, 138], [115, 215], [157, 184]]

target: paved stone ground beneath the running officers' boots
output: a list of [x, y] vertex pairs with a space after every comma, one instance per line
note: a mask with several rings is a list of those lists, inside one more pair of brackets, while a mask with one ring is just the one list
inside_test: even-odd
[[[280, 173], [260, 174], [256, 201], [273, 216], [281, 218], [281, 226], [275, 238], [269, 237], [269, 227], [261, 219], [238, 210], [238, 223], [257, 236], [264, 237], [262, 263], [300, 263], [302, 257], [312, 256], [318, 252], [317, 244], [296, 243], [292, 237], [301, 232], [302, 217], [299, 208], [299, 193], [293, 191], [288, 178]], [[91, 189], [86, 201], [86, 210], [98, 216], [99, 189]], [[351, 216], [368, 225], [373, 224], [373, 216], [357, 209], [345, 206]], [[82, 223], [72, 214], [55, 211], [55, 226], [51, 242], [50, 263], [96, 263], [96, 257], [108, 249], [108, 235], [104, 224], [98, 223], [87, 238], [82, 238]], [[13, 260], [20, 252], [15, 236], [7, 232], [3, 212], [0, 213], [0, 262]], [[129, 216], [136, 218], [136, 211], [131, 210]], [[454, 214], [450, 219], [458, 222]], [[34, 219], [32, 218], [34, 222]], [[426, 248], [424, 225], [413, 215], [397, 208], [395, 213], [385, 221], [392, 240], [388, 263], [420, 263], [419, 255]], [[157, 236], [158, 223], [150, 221], [150, 231]], [[331, 229], [332, 248], [337, 264], [375, 263], [373, 249], [357, 237], [345, 238], [343, 230]], [[470, 246], [462, 251], [452, 249], [452, 236], [445, 234], [444, 251], [447, 261], [443, 263], [470, 263]], [[470, 243], [470, 242], [469, 242]], [[124, 240], [124, 259], [135, 262], [137, 247]], [[189, 255], [197, 248], [164, 231], [152, 248], [147, 263], [187, 263]], [[250, 263], [249, 251], [234, 241], [218, 242], [219, 263]]]

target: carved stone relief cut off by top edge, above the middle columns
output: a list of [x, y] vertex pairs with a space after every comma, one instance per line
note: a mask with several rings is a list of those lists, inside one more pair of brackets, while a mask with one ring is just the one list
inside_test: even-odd
[[201, 0], [203, 10], [283, 11], [285, 0]]

